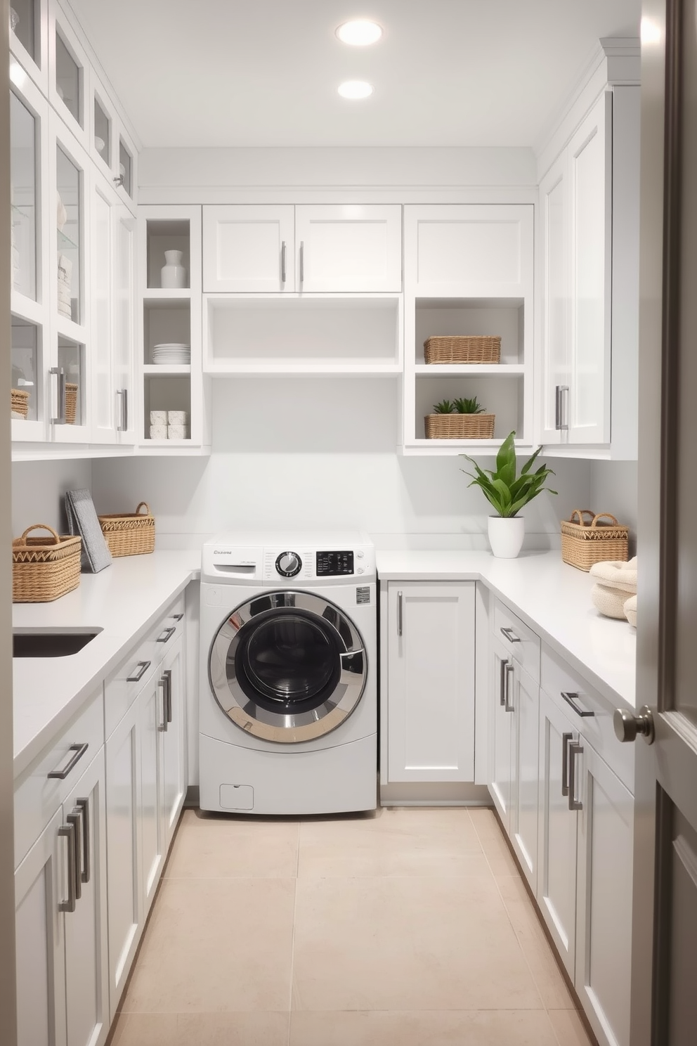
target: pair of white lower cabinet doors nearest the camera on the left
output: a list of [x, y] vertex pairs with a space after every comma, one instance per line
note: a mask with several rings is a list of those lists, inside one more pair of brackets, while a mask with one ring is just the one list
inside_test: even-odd
[[19, 1046], [101, 1046], [110, 1025], [104, 752], [15, 872]]

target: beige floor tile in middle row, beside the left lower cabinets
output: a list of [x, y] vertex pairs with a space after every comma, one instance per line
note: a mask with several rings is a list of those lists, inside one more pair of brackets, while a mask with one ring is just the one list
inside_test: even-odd
[[295, 883], [164, 880], [122, 1009], [288, 1009]]

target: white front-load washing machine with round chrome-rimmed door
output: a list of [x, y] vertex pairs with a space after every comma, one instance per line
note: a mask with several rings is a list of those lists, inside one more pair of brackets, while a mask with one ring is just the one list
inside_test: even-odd
[[202, 810], [374, 810], [370, 541], [219, 535], [204, 545], [201, 578]]

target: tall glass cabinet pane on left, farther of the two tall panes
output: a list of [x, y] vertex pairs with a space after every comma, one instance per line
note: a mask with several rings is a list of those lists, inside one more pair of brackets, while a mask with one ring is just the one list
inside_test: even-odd
[[57, 283], [59, 315], [80, 322], [80, 172], [59, 145], [57, 185]]

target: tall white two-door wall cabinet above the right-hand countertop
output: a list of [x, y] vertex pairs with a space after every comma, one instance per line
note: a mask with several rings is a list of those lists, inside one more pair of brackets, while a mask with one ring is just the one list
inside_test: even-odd
[[[640, 88], [595, 103], [540, 183], [548, 445], [636, 455]], [[612, 376], [612, 381], [611, 381]]]

